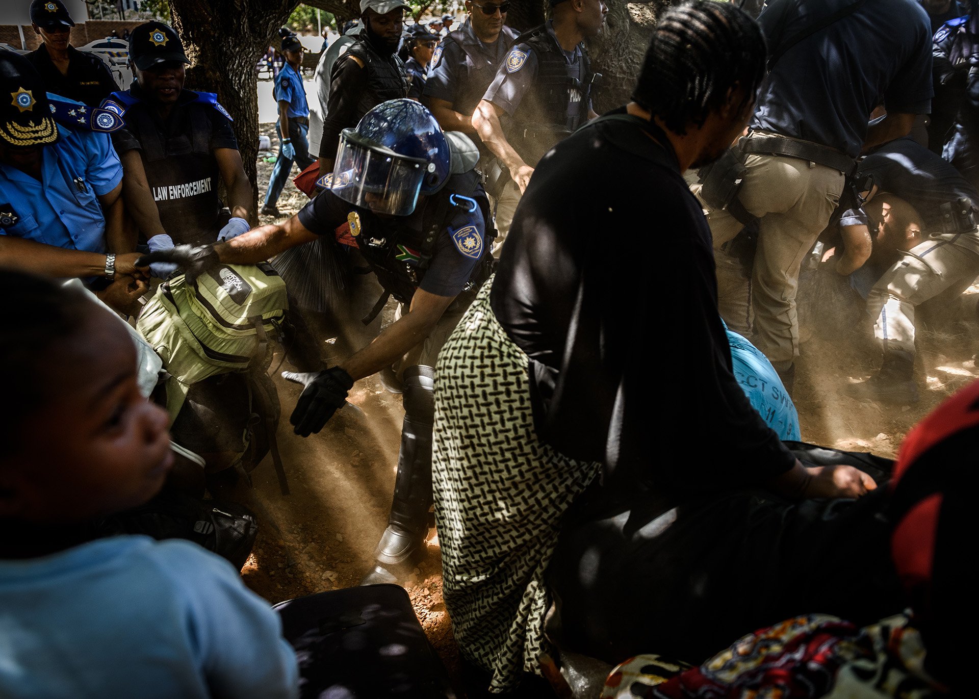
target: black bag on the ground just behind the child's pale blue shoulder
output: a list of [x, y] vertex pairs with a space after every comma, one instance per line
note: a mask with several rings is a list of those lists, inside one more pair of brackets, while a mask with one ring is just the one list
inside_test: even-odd
[[258, 524], [252, 511], [237, 502], [201, 500], [163, 489], [146, 504], [119, 512], [96, 527], [100, 537], [123, 534], [186, 538], [241, 570], [255, 545]]

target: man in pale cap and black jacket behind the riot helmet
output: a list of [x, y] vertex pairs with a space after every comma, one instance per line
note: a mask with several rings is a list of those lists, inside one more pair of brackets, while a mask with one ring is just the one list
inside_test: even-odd
[[330, 73], [330, 96], [319, 146], [319, 173], [333, 171], [340, 132], [356, 125], [361, 116], [386, 100], [408, 94], [404, 64], [397, 56], [401, 45], [404, 0], [360, 0], [364, 30], [337, 59]]

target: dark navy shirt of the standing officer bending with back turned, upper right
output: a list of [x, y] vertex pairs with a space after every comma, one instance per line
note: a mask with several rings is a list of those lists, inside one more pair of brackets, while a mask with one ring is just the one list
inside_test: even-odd
[[[758, 23], [774, 52], [789, 38], [854, 0], [777, 0]], [[751, 127], [860, 155], [870, 113], [931, 112], [931, 25], [915, 0], [866, 0], [862, 7], [788, 49], [762, 83]]]

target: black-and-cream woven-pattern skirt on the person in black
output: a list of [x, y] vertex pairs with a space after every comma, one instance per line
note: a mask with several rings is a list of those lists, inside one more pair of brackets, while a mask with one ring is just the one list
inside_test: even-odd
[[455, 640], [501, 691], [540, 674], [544, 571], [562, 515], [599, 467], [538, 441], [530, 359], [496, 321], [491, 286], [439, 354], [433, 486]]

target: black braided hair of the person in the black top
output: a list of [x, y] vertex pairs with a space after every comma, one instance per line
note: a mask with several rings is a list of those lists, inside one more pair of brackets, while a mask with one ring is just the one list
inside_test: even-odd
[[743, 91], [739, 112], [747, 107], [765, 76], [766, 53], [747, 13], [728, 2], [686, 2], [657, 23], [632, 101], [682, 135], [720, 110], [732, 88]]

